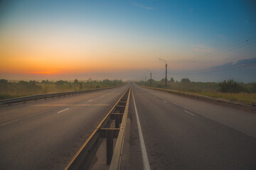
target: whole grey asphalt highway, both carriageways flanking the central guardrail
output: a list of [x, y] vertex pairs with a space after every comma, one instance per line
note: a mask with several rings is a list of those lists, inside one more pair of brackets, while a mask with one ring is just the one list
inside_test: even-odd
[[[128, 88], [0, 106], [0, 169], [63, 169]], [[256, 169], [256, 113], [132, 84], [122, 169]]]

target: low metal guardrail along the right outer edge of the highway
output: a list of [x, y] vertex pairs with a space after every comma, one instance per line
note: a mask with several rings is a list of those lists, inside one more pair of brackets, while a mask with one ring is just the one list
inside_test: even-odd
[[[138, 85], [138, 86], [140, 86], [140, 85]], [[168, 91], [168, 92], [170, 92], [172, 94], [181, 94], [181, 95], [184, 95], [184, 96], [193, 96], [193, 97], [196, 97], [196, 98], [203, 98], [203, 99], [206, 99], [208, 101], [225, 102], [225, 103], [245, 106], [245, 107], [248, 107], [248, 108], [255, 108], [255, 106], [247, 105], [247, 104], [244, 104], [244, 103], [228, 101], [228, 100], [221, 99], [221, 98], [213, 98], [213, 97], [203, 96], [203, 95], [200, 95], [200, 94], [191, 94], [191, 93], [184, 92], [184, 91], [176, 91], [176, 90], [171, 90], [171, 89], [161, 89], [161, 88], [155, 88], [155, 87], [149, 87], [149, 86], [142, 86], [142, 87], [146, 87], [148, 89], [159, 90], [159, 91]]]

